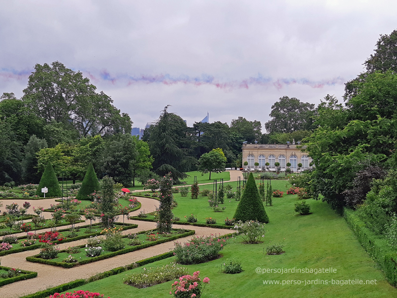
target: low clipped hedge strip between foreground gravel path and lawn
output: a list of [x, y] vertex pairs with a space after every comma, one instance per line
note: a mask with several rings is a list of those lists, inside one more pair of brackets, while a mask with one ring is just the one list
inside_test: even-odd
[[166, 258], [172, 257], [173, 255], [174, 255], [174, 253], [172, 251], [166, 252], [166, 253], [163, 253], [163, 254], [160, 254], [157, 256], [153, 256], [153, 257], [141, 260], [141, 261], [137, 261], [136, 263], [132, 263], [132, 264], [124, 266], [124, 267], [118, 267], [118, 268], [114, 268], [109, 271], [105, 271], [103, 273], [99, 273], [99, 274], [94, 275], [94, 276], [92, 276], [88, 279], [85, 279], [85, 280], [83, 280], [83, 279], [75, 280], [75, 281], [69, 282], [67, 284], [63, 284], [63, 285], [60, 285], [60, 286], [57, 286], [57, 287], [54, 287], [51, 289], [47, 289], [45, 291], [40, 291], [40, 292], [37, 292], [34, 294], [30, 294], [30, 295], [27, 295], [27, 296], [24, 296], [21, 298], [46, 298], [50, 295], [53, 295], [54, 293], [62, 293], [62, 292], [68, 291], [68, 290], [76, 288], [76, 287], [81, 287], [83, 285], [107, 278], [112, 275], [123, 273], [125, 271], [131, 270], [136, 267], [140, 267], [140, 266], [144, 266], [144, 265], [156, 262], [156, 261], [164, 260]]

